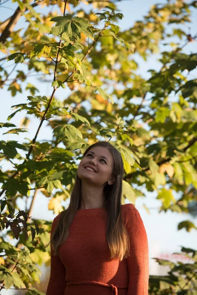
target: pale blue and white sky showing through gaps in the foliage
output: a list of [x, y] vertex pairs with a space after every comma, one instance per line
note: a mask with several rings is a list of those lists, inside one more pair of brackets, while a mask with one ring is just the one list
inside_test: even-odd
[[[3, 2], [3, 1], [1, 1]], [[166, 1], [160, 0], [125, 0], [121, 2], [117, 2], [119, 9], [124, 14], [124, 18], [119, 22], [119, 26], [122, 30], [128, 29], [131, 27], [135, 21], [141, 20], [142, 16], [147, 14], [151, 5], [156, 3], [165, 3]], [[3, 8], [8, 7], [8, 8]], [[11, 1], [6, 2], [4, 5], [0, 5], [0, 21], [5, 20], [9, 17], [16, 7], [16, 3], [12, 3]], [[85, 7], [85, 4], [82, 4]], [[197, 10], [197, 9], [196, 9]], [[1, 13], [2, 12], [2, 13]], [[193, 11], [192, 16], [193, 23], [188, 25], [191, 27], [191, 34], [196, 34], [197, 28], [197, 11]], [[185, 29], [185, 28], [184, 28]], [[183, 44], [185, 40], [182, 40]], [[166, 48], [165, 48], [166, 50]], [[186, 53], [192, 53], [197, 51], [197, 43], [189, 43], [185, 48]], [[157, 60], [160, 55], [154, 55], [149, 57], [147, 61], [144, 61], [138, 54], [135, 54], [134, 59], [139, 63], [138, 74], [142, 75], [144, 78], [149, 77], [149, 73], [147, 70], [150, 68], [159, 69], [161, 63]], [[12, 69], [12, 64], [7, 63], [7, 70]], [[17, 69], [21, 69], [22, 65], [20, 64]], [[194, 75], [194, 73], [193, 73]], [[51, 85], [50, 83], [39, 83], [36, 78], [31, 78], [30, 83], [36, 85], [39, 88], [39, 95], [49, 95], [51, 93]], [[57, 97], [66, 97], [68, 94], [67, 89], [58, 89]], [[28, 94], [29, 95], [29, 94]], [[17, 94], [15, 97], [10, 95], [10, 92], [6, 91], [6, 89], [0, 89], [0, 122], [5, 122], [7, 117], [12, 113], [11, 106], [16, 105], [18, 103], [24, 103], [27, 100], [25, 94]], [[175, 97], [172, 97], [172, 100]], [[18, 113], [11, 122], [16, 124], [18, 127], [20, 125], [20, 121], [24, 118], [25, 113]], [[29, 133], [26, 133], [26, 137], [30, 140], [33, 139], [35, 132], [38, 127], [38, 120], [34, 119], [30, 125]], [[39, 132], [37, 140], [50, 140], [51, 139], [51, 128], [47, 127], [46, 124], [42, 125], [42, 128]], [[3, 135], [0, 133], [0, 138], [2, 140], [18, 140], [19, 142], [24, 142], [24, 134], [22, 136], [16, 135]], [[6, 169], [8, 168], [8, 164], [6, 164]], [[167, 211], [166, 213], [158, 212], [159, 206], [161, 206], [161, 202], [156, 200], [157, 194], [156, 192], [150, 193], [146, 190], [142, 189], [146, 195], [146, 198], [137, 198], [135, 206], [139, 210], [141, 218], [144, 222], [144, 226], [147, 231], [148, 242], [149, 242], [149, 255], [150, 255], [150, 274], [158, 274], [159, 268], [158, 264], [154, 262], [153, 257], [161, 257], [165, 254], [172, 254], [173, 252], [179, 252], [180, 246], [196, 248], [197, 245], [197, 232], [195, 230], [190, 233], [186, 232], [185, 229], [181, 231], [177, 231], [177, 225], [179, 222], [183, 220], [190, 220], [194, 222], [197, 226], [197, 219], [194, 219], [192, 216], [187, 214], [180, 214], [176, 212]], [[175, 195], [175, 198], [178, 195]], [[36, 200], [33, 207], [32, 218], [42, 218], [46, 220], [53, 220], [56, 216], [53, 212], [48, 210], [48, 202], [49, 199], [44, 197], [41, 193], [38, 193], [36, 196]], [[31, 198], [29, 198], [29, 204], [31, 203]], [[127, 201], [129, 203], [129, 201]], [[21, 210], [24, 210], [24, 203], [21, 201], [18, 203]], [[150, 214], [144, 209], [143, 204], [150, 208]], [[13, 295], [14, 291], [1, 291], [2, 295]], [[21, 292], [23, 294], [23, 292]]]

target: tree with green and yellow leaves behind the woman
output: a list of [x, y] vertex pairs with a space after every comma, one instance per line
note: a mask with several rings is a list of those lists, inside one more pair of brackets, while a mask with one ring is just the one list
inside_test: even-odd
[[[17, 199], [27, 201], [33, 191], [34, 200], [40, 190], [50, 198], [49, 209], [61, 212], [73, 187], [75, 161], [98, 139], [121, 152], [123, 203], [143, 196], [142, 185], [157, 190], [161, 211], [190, 212], [191, 202], [197, 201], [197, 80], [190, 79], [197, 55], [184, 52], [196, 36], [181, 27], [191, 22], [197, 1], [153, 5], [142, 21], [124, 31], [117, 23], [123, 15], [112, 1], [89, 1], [88, 11], [74, 0], [17, 3], [14, 14], [0, 24], [0, 85], [12, 96], [28, 95], [0, 127], [4, 135], [19, 135], [32, 118], [39, 124], [32, 140], [0, 141], [0, 159], [11, 164], [0, 170], [0, 228], [7, 230], [7, 238], [17, 239], [13, 246], [5, 235], [0, 238], [0, 290], [14, 285], [35, 295], [43, 294], [33, 288], [39, 282], [35, 264], [49, 263], [50, 249], [44, 245], [51, 222], [32, 220], [33, 201], [24, 211]], [[15, 30], [21, 18], [25, 28]], [[171, 41], [175, 37], [177, 43]], [[135, 54], [147, 60], [160, 52], [163, 40], [172, 49], [161, 52], [161, 69], [150, 69], [146, 80], [136, 73]], [[10, 72], [6, 60], [13, 64]], [[50, 96], [38, 95], [38, 87], [29, 83], [33, 75], [50, 81]], [[70, 90], [67, 97], [58, 98], [65, 88]], [[18, 112], [25, 114], [23, 128], [11, 123]], [[37, 140], [45, 122], [51, 127], [50, 142]], [[185, 220], [178, 225], [182, 228], [196, 226]]]

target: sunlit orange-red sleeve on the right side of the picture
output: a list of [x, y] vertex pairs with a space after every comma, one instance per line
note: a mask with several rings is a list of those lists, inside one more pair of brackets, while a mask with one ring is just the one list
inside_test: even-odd
[[148, 240], [141, 216], [132, 204], [126, 214], [126, 228], [130, 239], [130, 256], [127, 258], [128, 295], [148, 295]]

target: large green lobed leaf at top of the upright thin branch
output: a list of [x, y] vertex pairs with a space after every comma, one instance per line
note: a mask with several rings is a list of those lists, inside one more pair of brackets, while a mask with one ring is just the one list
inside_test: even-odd
[[83, 32], [88, 38], [94, 40], [90, 24], [84, 18], [65, 15], [54, 17], [51, 21], [56, 22], [56, 26], [50, 31], [51, 34], [56, 36], [63, 34], [62, 36], [66, 36], [68, 41], [75, 43], [80, 40]]

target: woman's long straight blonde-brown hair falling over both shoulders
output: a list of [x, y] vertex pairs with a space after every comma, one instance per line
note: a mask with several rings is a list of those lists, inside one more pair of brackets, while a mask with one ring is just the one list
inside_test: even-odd
[[[106, 239], [110, 250], [111, 259], [123, 259], [129, 256], [130, 244], [129, 236], [121, 216], [121, 198], [122, 198], [122, 180], [124, 174], [123, 160], [120, 152], [109, 142], [100, 141], [88, 147], [83, 153], [83, 157], [94, 147], [107, 148], [113, 157], [112, 176], [115, 177], [113, 184], [108, 183], [103, 188], [104, 204], [108, 212], [106, 224]], [[117, 177], [118, 176], [118, 177]], [[76, 211], [81, 207], [81, 179], [75, 177], [75, 183], [70, 196], [70, 203], [66, 210], [62, 211], [59, 216], [56, 229], [51, 234], [51, 246], [54, 254], [59, 255], [59, 247], [68, 237], [69, 226], [74, 219]], [[49, 243], [50, 243], [49, 242]], [[49, 244], [48, 243], [48, 244]], [[48, 246], [47, 244], [47, 246]]]

